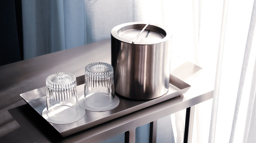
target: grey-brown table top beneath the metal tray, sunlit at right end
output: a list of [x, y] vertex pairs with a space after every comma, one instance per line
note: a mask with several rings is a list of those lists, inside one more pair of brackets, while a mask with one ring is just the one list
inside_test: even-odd
[[37, 143], [85, 140], [98, 142], [213, 97], [214, 77], [191, 62], [176, 64], [171, 74], [191, 85], [184, 95], [62, 137], [46, 120], [37, 115], [20, 94], [44, 87], [45, 79], [52, 73], [84, 75], [85, 66], [93, 62], [111, 64], [110, 39], [0, 66], [0, 140]]

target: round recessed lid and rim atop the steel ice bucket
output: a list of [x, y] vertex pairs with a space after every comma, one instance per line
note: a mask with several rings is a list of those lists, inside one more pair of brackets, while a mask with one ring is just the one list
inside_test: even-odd
[[[132, 43], [146, 23], [131, 22], [120, 24], [111, 30], [111, 35], [117, 40]], [[136, 40], [135, 44], [157, 44], [170, 40], [172, 34], [170, 30], [159, 24], [149, 24]]]

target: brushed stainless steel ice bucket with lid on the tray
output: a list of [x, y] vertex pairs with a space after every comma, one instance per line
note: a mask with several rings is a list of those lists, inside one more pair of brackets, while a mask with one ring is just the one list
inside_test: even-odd
[[161, 25], [146, 25], [125, 23], [111, 30], [115, 92], [130, 99], [158, 98], [169, 87], [172, 34]]

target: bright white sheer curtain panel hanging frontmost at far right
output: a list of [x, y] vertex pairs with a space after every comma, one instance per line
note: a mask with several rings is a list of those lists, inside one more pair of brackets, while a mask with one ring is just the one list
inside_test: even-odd
[[256, 142], [255, 6], [224, 0], [209, 142]]

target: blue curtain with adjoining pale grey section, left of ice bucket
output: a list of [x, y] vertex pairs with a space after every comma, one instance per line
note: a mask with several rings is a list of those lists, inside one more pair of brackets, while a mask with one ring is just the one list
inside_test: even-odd
[[134, 9], [134, 0], [22, 0], [24, 59], [110, 38]]

